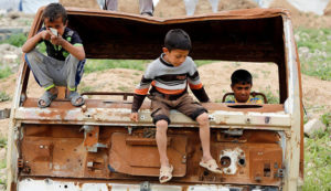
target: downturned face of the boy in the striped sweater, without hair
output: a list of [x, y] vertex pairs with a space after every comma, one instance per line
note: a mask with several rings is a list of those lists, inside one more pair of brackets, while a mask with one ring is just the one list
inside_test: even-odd
[[163, 53], [166, 54], [164, 60], [172, 64], [173, 66], [180, 66], [189, 55], [189, 50], [175, 49], [169, 51], [167, 47], [163, 47]]

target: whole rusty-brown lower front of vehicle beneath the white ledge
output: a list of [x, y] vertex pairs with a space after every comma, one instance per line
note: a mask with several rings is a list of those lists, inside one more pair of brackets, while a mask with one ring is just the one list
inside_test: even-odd
[[[142, 127], [135, 128], [131, 134], [122, 127], [99, 127], [98, 141], [111, 147], [100, 148], [97, 152], [86, 150], [79, 126], [24, 125], [24, 129], [21, 156], [30, 171], [21, 170], [20, 177], [158, 182], [159, 156], [156, 145], [130, 144], [134, 139], [146, 140]], [[245, 141], [237, 141], [237, 136], [231, 139], [232, 136], [225, 136], [221, 129], [212, 130], [211, 151], [223, 168], [223, 176], [199, 167], [202, 151], [197, 130], [170, 128], [168, 134], [171, 137], [168, 153], [174, 166], [173, 182], [280, 185], [281, 179], [275, 177], [282, 167], [282, 150], [277, 132], [244, 130], [238, 138]], [[223, 158], [236, 150], [241, 152], [228, 156], [231, 167], [236, 170], [228, 172]], [[266, 163], [269, 166], [265, 168]], [[255, 180], [256, 174], [261, 174], [258, 181]]]

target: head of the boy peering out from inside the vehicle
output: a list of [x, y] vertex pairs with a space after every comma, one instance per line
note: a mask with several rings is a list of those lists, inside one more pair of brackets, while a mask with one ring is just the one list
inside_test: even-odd
[[252, 75], [246, 70], [237, 70], [231, 76], [231, 88], [238, 103], [246, 103], [249, 99], [253, 86]]

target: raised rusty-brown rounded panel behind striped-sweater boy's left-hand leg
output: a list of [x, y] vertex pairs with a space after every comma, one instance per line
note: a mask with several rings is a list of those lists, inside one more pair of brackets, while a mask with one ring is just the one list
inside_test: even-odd
[[[160, 158], [157, 145], [130, 145], [126, 140], [130, 136], [126, 132], [111, 135], [109, 166], [116, 171], [132, 176], [159, 177]], [[183, 135], [170, 136], [167, 152], [171, 156], [173, 177], [184, 177], [186, 173], [186, 142]], [[153, 138], [151, 140], [154, 140]]]

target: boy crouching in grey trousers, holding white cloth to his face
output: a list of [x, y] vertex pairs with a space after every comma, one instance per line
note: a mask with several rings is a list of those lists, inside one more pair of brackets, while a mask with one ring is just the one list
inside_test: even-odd
[[[67, 14], [60, 3], [51, 3], [44, 9], [43, 22], [44, 26], [22, 46], [35, 81], [45, 89], [38, 106], [47, 107], [57, 97], [55, 85], [66, 86], [71, 103], [81, 106], [84, 99], [76, 88], [85, 64], [82, 40], [77, 32], [66, 26]], [[35, 50], [42, 41], [46, 45], [47, 56]]]

